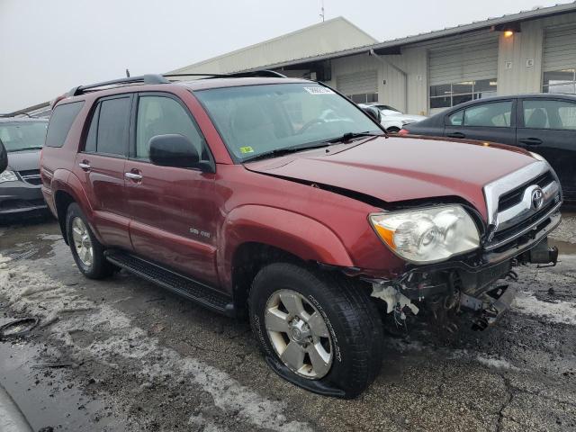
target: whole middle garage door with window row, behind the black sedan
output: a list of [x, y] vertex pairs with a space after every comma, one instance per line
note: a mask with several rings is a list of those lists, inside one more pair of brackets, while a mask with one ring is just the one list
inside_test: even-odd
[[498, 32], [428, 51], [430, 109], [496, 95]]

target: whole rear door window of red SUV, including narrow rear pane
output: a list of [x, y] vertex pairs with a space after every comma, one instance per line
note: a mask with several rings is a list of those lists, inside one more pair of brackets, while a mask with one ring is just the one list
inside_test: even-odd
[[86, 152], [125, 156], [130, 127], [131, 98], [106, 99], [96, 105], [86, 135]]

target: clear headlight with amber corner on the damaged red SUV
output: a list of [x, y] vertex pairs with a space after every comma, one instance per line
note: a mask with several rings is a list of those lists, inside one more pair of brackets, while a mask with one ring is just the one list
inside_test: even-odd
[[373, 213], [370, 222], [392, 252], [415, 264], [437, 263], [480, 246], [476, 224], [460, 205]]

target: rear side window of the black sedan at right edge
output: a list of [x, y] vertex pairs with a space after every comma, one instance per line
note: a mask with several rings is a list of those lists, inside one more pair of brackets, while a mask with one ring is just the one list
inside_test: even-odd
[[576, 130], [576, 103], [534, 100], [523, 105], [527, 128]]

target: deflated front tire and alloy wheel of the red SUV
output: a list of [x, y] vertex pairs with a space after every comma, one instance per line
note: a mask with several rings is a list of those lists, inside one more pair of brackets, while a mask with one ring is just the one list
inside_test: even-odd
[[[303, 299], [302, 307], [309, 316], [303, 327], [299, 326], [302, 325], [301, 317], [305, 315], [291, 312], [284, 304], [286, 299], [286, 304], [292, 302], [294, 296]], [[257, 274], [248, 303], [252, 331], [268, 364], [290, 382], [312, 392], [350, 399], [364, 392], [374, 381], [382, 365], [382, 321], [368, 293], [351, 279], [314, 268], [275, 263]], [[289, 307], [293, 308], [293, 305]], [[314, 313], [322, 318], [328, 338], [319, 337], [325, 330], [318, 320], [313, 319]], [[286, 323], [288, 331], [284, 331]], [[297, 334], [294, 327], [299, 329]], [[297, 341], [307, 334], [306, 329], [312, 336], [305, 340], [311, 343]], [[302, 358], [295, 347], [289, 347], [296, 342], [308, 354], [304, 355], [302, 369], [291, 367], [290, 362], [285, 361]], [[298, 354], [287, 355], [288, 352]], [[326, 366], [326, 361], [322, 364], [318, 360], [328, 358], [325, 356], [327, 353], [329, 366]], [[316, 362], [312, 362], [312, 356]], [[293, 361], [292, 364], [300, 365], [300, 362]], [[318, 373], [314, 375], [316, 371]]]

